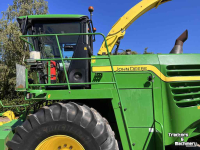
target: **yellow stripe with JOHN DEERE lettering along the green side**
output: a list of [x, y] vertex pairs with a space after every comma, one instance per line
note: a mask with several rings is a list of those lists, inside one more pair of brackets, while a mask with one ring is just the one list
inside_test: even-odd
[[[135, 66], [113, 66], [114, 71], [116, 72], [134, 72], [134, 71], [152, 71], [154, 72], [161, 80], [165, 82], [172, 81], [199, 81], [200, 76], [187, 76], [187, 77], [166, 77], [158, 70], [155, 66], [152, 65], [135, 65]], [[101, 66], [101, 67], [92, 67], [93, 72], [111, 72], [111, 66]]]

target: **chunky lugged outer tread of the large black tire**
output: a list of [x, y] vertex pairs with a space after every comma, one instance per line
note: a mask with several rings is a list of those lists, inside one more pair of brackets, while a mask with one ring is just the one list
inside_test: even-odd
[[13, 139], [7, 142], [7, 146], [11, 150], [21, 150], [29, 132], [38, 128], [41, 124], [51, 121], [73, 122], [93, 136], [100, 150], [118, 150], [114, 132], [107, 120], [95, 109], [86, 105], [80, 106], [73, 102], [56, 103], [50, 107], [45, 106], [37, 113], [30, 115], [22, 126], [16, 128], [16, 133]]

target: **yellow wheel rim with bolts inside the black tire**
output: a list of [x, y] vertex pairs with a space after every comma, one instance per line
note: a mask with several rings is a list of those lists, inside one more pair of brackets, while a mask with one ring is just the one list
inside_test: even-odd
[[35, 150], [85, 150], [74, 138], [66, 135], [54, 135], [43, 140]]

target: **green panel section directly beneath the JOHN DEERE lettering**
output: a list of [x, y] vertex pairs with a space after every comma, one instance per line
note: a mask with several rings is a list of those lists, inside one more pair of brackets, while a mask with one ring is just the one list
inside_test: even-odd
[[118, 88], [152, 88], [152, 82], [148, 81], [149, 73], [117, 73]]

